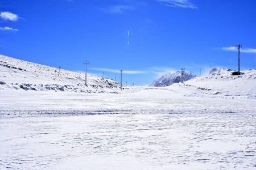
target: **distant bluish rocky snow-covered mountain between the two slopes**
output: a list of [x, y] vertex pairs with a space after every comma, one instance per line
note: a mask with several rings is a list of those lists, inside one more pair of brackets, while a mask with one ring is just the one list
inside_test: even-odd
[[[192, 74], [190, 71], [183, 72], [183, 81], [187, 81], [195, 78], [196, 75]], [[181, 82], [181, 71], [176, 71], [175, 73], [168, 73], [166, 75], [161, 76], [158, 79], [155, 79], [150, 86], [155, 87], [165, 87], [170, 86], [173, 83]]]

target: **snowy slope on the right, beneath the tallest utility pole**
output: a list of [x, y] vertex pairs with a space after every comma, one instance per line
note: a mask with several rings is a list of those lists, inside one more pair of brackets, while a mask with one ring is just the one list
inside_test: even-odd
[[213, 69], [206, 76], [197, 76], [185, 83], [168, 87], [148, 87], [145, 90], [168, 90], [170, 95], [195, 96], [224, 99], [256, 99], [256, 70], [242, 71], [243, 75], [232, 75], [230, 69]]

